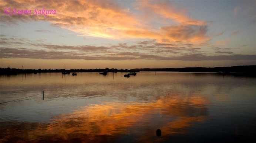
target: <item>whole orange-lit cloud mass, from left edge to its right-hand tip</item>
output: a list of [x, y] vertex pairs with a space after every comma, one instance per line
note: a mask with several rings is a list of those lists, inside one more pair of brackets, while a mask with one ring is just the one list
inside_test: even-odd
[[[52, 26], [61, 27], [85, 36], [110, 39], [143, 38], [153, 39], [161, 43], [205, 42], [210, 37], [206, 35], [207, 22], [186, 16], [185, 10], [176, 10], [167, 2], [135, 1], [141, 8], [139, 11], [152, 11], [160, 15], [154, 21], [142, 19], [140, 13], [133, 13], [126, 7], [121, 7], [112, 0], [76, 0], [63, 1], [44, 0], [1, 0], [0, 9], [10, 7], [16, 10], [56, 10], [56, 14], [0, 14], [0, 21], [6, 24], [18, 24], [19, 21], [47, 21]], [[175, 24], [161, 25], [166, 18]], [[153, 24], [153, 22], [158, 24]], [[49, 32], [49, 31], [37, 31]]]

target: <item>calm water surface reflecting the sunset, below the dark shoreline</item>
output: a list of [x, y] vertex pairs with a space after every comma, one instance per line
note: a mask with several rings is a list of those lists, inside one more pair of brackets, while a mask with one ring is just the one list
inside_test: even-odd
[[[256, 78], [124, 74], [0, 76], [0, 142], [256, 139]], [[156, 136], [156, 129], [161, 129], [161, 136]]]

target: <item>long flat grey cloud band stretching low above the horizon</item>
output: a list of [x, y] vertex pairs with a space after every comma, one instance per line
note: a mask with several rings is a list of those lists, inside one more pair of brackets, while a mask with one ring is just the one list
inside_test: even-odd
[[[73, 47], [60, 46], [61, 49], [73, 49]], [[75, 47], [74, 47], [75, 48]], [[98, 50], [108, 49], [106, 47], [96, 47]], [[202, 61], [202, 60], [255, 60], [256, 55], [213, 55], [206, 56], [202, 53], [185, 54], [181, 56], [158, 55], [158, 53], [166, 53], [166, 51], [155, 51], [154, 53], [139, 53], [139, 52], [102, 52], [87, 53], [90, 50], [84, 50], [79, 47], [77, 51], [53, 51], [53, 50], [38, 50], [26, 48], [4, 48], [0, 47], [1, 58], [29, 58], [29, 59], [84, 59], [84, 60], [182, 60], [182, 61]], [[171, 52], [172, 50], [169, 50]], [[172, 51], [175, 53], [175, 51]], [[178, 53], [178, 52], [176, 52]], [[216, 53], [232, 53], [232, 52], [216, 52]]]

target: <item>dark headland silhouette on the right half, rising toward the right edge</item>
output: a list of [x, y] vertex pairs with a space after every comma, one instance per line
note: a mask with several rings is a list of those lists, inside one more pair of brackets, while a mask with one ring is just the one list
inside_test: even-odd
[[246, 72], [256, 73], [256, 65], [232, 66], [232, 67], [184, 67], [184, 68], [161, 68], [161, 69], [131, 69], [133, 71], [176, 71], [176, 72]]

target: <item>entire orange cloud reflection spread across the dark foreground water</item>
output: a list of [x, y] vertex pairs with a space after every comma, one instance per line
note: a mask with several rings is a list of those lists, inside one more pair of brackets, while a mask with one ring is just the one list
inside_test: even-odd
[[201, 95], [169, 97], [150, 103], [101, 102], [70, 114], [54, 116], [51, 123], [9, 122], [6, 126], [1, 125], [0, 131], [5, 133], [2, 141], [77, 139], [100, 142], [132, 134], [137, 141], [150, 139], [152, 142], [158, 128], [162, 130], [162, 136], [187, 134], [188, 127], [207, 118], [208, 101]]

